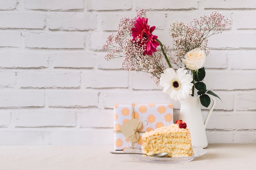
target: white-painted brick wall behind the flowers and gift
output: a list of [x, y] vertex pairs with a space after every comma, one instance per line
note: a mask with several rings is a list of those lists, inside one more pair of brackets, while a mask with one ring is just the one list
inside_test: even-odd
[[[147, 73], [104, 59], [101, 47], [119, 18], [140, 8], [168, 46], [174, 21], [213, 10], [232, 19], [209, 38], [205, 82], [222, 102], [207, 136], [256, 143], [256, 1], [0, 0], [0, 145], [112, 144], [114, 104], [173, 102]], [[177, 119], [180, 104], [173, 104]]]

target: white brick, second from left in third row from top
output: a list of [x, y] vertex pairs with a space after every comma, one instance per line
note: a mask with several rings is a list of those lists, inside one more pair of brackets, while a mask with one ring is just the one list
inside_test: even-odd
[[83, 33], [25, 33], [26, 48], [84, 49]]

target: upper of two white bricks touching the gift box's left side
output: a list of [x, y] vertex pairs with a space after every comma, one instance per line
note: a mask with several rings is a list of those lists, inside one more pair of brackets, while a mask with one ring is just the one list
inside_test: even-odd
[[87, 108], [77, 113], [78, 124], [81, 128], [112, 128], [113, 110]]

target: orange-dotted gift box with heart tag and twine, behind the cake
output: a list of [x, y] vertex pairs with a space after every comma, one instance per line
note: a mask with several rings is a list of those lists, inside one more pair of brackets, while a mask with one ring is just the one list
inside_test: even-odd
[[114, 106], [114, 148], [141, 148], [146, 131], [173, 124], [173, 104], [120, 104]]

